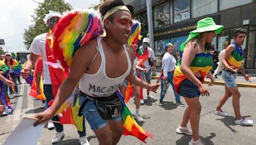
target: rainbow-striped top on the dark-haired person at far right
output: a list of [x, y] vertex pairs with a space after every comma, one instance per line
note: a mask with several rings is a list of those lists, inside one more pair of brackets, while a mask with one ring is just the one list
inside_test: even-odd
[[234, 66], [236, 69], [239, 69], [244, 60], [244, 52], [242, 48], [239, 48], [236, 43], [232, 43], [235, 47], [234, 51], [231, 53], [231, 55], [227, 59], [227, 63], [229, 66]]

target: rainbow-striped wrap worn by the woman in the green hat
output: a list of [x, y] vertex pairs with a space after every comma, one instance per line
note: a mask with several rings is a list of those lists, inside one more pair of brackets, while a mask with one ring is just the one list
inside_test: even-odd
[[[183, 52], [180, 53], [180, 59], [175, 67], [174, 75], [173, 75], [173, 81], [175, 86], [175, 91], [179, 93], [179, 86], [187, 77], [183, 74], [182, 71], [180, 71], [180, 66], [182, 59]], [[212, 69], [213, 60], [211, 53], [198, 53], [195, 55], [194, 60], [191, 62], [191, 65], [189, 66], [189, 69], [195, 74], [195, 72], [200, 72], [202, 75], [201, 82], [204, 83], [204, 78], [206, 74]]]

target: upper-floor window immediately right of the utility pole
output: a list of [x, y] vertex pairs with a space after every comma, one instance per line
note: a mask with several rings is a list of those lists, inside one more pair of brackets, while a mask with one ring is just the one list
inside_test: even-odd
[[163, 3], [154, 8], [154, 27], [163, 27], [170, 24], [169, 2]]

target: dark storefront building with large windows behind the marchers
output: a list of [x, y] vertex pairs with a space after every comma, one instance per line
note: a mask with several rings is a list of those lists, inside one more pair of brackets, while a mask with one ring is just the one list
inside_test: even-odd
[[[150, 1], [150, 0], [147, 0]], [[141, 34], [148, 36], [146, 0], [124, 0], [134, 6], [133, 18], [141, 22]], [[255, 0], [151, 0], [154, 29], [154, 51], [157, 68], [161, 68], [161, 55], [166, 43], [173, 43], [174, 53], [179, 53], [180, 45], [196, 29], [196, 22], [212, 17], [216, 24], [224, 25], [223, 31], [214, 38], [212, 45], [223, 50], [234, 41], [233, 32], [237, 28], [247, 31], [244, 49], [244, 68], [256, 74], [256, 1]]]

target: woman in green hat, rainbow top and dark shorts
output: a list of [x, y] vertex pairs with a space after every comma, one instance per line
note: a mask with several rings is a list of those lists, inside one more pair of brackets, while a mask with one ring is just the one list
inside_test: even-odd
[[[210, 71], [213, 60], [209, 51], [213, 38], [222, 29], [223, 25], [216, 25], [210, 17], [199, 20], [196, 30], [191, 31], [188, 39], [180, 46], [180, 60], [175, 68], [173, 80], [175, 91], [184, 97], [188, 107], [176, 132], [193, 135], [189, 145], [204, 144], [199, 137], [202, 108], [199, 96], [209, 96], [207, 88], [203, 85], [205, 76], [211, 79], [209, 86], [213, 85], [214, 78]], [[187, 127], [188, 121], [190, 121], [192, 131]]]

